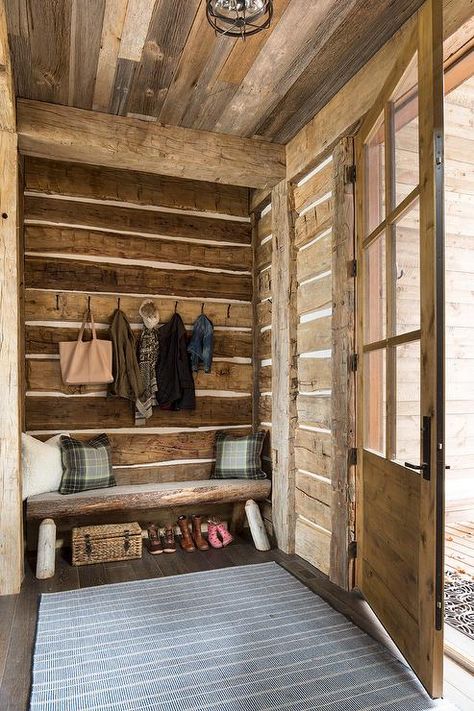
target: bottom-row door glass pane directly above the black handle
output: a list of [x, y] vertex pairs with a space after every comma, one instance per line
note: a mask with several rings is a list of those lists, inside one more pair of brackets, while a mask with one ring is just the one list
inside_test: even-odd
[[395, 459], [402, 464], [420, 462], [420, 342], [396, 348], [397, 399]]

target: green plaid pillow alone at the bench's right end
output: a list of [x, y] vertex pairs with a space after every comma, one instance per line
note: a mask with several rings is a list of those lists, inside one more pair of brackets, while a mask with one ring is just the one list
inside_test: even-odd
[[211, 479], [266, 479], [262, 471], [262, 447], [265, 432], [233, 437], [216, 435], [216, 465]]

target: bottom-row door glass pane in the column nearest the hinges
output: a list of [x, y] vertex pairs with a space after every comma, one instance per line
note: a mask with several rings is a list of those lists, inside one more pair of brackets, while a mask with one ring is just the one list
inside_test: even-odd
[[364, 355], [364, 447], [385, 455], [385, 349]]

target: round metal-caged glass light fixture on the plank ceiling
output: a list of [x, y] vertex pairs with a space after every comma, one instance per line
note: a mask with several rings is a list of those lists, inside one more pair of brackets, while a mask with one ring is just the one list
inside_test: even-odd
[[216, 32], [250, 37], [270, 27], [272, 0], [207, 0], [207, 19]]

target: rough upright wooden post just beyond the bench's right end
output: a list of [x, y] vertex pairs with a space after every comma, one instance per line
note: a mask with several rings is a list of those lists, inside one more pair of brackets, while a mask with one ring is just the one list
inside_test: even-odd
[[278, 547], [295, 549], [296, 248], [293, 189], [272, 191], [272, 511]]

